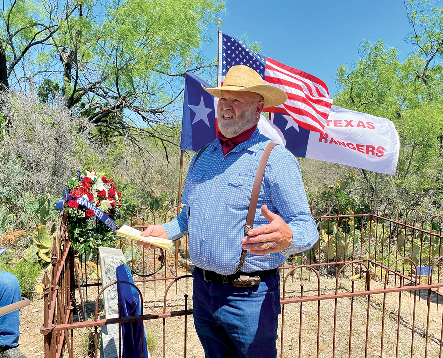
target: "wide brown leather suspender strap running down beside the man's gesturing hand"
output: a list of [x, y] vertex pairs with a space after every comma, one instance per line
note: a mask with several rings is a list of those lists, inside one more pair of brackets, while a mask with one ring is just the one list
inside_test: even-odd
[[[254, 185], [252, 187], [251, 200], [249, 201], [248, 216], [246, 216], [245, 234], [248, 235], [248, 231], [254, 227], [255, 212], [257, 210], [258, 196], [260, 195], [261, 183], [263, 181], [264, 169], [266, 169], [266, 164], [268, 164], [269, 154], [271, 154], [272, 148], [276, 146], [276, 143], [270, 142], [264, 149], [263, 155], [261, 156], [260, 163], [258, 165], [257, 173], [254, 179]], [[241, 250], [240, 262], [238, 263], [237, 269], [234, 274], [240, 271], [241, 267], [245, 263], [246, 250]]]

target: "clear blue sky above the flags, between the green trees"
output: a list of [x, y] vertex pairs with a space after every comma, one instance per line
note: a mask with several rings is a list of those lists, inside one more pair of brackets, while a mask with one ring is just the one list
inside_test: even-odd
[[[221, 31], [233, 37], [246, 31], [264, 56], [319, 77], [330, 95], [338, 66], [358, 60], [361, 40], [385, 40], [400, 60], [412, 50], [404, 41], [412, 27], [403, 0], [232, 0], [221, 17]], [[216, 26], [214, 41], [203, 47], [210, 59], [217, 56]]]

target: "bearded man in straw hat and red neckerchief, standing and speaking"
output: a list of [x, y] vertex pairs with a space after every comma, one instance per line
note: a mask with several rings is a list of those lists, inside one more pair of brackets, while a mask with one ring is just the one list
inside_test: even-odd
[[[260, 113], [287, 96], [264, 85], [247, 66], [231, 67], [223, 86], [205, 90], [219, 98], [218, 138], [190, 163], [180, 215], [149, 226], [142, 235], [172, 240], [189, 235], [196, 266], [194, 324], [207, 358], [276, 357], [278, 267], [288, 254], [308, 250], [318, 239], [298, 163], [283, 146], [275, 146], [269, 156], [260, 210], [247, 236], [244, 227], [256, 170], [271, 142], [256, 129]], [[233, 275], [242, 249], [248, 250], [245, 263]], [[240, 275], [259, 276], [261, 282], [233, 286]]]

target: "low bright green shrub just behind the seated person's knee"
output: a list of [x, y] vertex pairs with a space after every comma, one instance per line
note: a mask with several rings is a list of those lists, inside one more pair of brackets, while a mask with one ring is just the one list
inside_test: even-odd
[[37, 277], [42, 272], [42, 266], [38, 262], [27, 262], [20, 260], [15, 266], [3, 264], [2, 271], [7, 271], [16, 275], [20, 283], [20, 291], [23, 297], [32, 298], [37, 284]]

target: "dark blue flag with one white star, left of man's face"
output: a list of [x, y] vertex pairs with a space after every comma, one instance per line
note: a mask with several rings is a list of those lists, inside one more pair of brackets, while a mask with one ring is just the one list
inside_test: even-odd
[[214, 96], [202, 89], [213, 88], [208, 82], [189, 71], [185, 73], [185, 96], [183, 100], [181, 150], [200, 150], [213, 142], [216, 134], [216, 106]]

